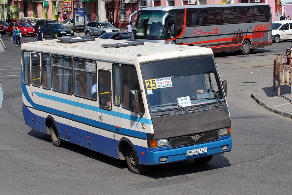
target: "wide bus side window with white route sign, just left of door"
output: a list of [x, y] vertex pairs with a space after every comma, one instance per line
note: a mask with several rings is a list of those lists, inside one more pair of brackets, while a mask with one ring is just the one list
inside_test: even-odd
[[74, 59], [74, 95], [96, 100], [92, 86], [96, 83], [96, 62]]

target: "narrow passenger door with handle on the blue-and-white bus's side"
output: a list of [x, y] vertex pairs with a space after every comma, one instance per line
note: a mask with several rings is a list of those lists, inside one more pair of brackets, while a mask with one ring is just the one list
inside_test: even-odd
[[114, 142], [115, 126], [112, 113], [112, 70], [98, 70], [98, 83], [96, 87], [102, 150], [106, 155], [117, 157], [117, 147]]

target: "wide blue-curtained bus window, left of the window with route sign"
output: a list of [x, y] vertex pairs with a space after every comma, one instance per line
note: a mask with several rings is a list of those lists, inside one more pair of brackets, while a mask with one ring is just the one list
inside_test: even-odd
[[72, 59], [53, 56], [53, 90], [72, 94]]

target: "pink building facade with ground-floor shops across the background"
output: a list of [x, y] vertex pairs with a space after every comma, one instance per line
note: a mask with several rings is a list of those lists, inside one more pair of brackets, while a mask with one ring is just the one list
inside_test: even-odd
[[[105, 1], [105, 0], [100, 0]], [[150, 0], [150, 6], [180, 6], [219, 4], [222, 0]], [[292, 5], [281, 6], [281, 0], [227, 0], [227, 3], [267, 3], [271, 5], [273, 21], [280, 20], [283, 13], [292, 15]], [[22, 17], [48, 18], [62, 22], [73, 18], [73, 8], [85, 8], [87, 21], [98, 20], [98, 0], [0, 0], [1, 20], [7, 19], [11, 11], [12, 18]], [[105, 1], [107, 21], [115, 27], [128, 25], [131, 13], [147, 7], [146, 0], [109, 0]], [[136, 17], [136, 16], [135, 16]], [[134, 18], [135, 19], [135, 18]]]

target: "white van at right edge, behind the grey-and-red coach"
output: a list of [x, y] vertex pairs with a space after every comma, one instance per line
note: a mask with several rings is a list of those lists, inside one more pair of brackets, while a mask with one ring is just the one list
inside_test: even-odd
[[292, 20], [280, 20], [272, 23], [272, 38], [275, 43], [292, 39]]

